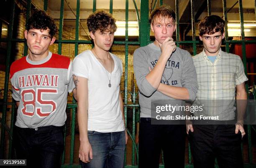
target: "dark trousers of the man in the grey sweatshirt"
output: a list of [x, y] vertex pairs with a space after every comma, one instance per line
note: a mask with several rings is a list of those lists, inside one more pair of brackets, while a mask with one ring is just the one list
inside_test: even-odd
[[139, 168], [159, 168], [161, 149], [165, 168], [184, 168], [185, 136], [185, 125], [151, 125], [141, 118]]

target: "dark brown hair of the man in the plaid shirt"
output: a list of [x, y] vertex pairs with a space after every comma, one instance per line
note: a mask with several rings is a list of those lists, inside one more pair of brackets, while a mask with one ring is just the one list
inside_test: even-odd
[[198, 24], [199, 35], [224, 33], [225, 21], [217, 15], [210, 15], [203, 18]]

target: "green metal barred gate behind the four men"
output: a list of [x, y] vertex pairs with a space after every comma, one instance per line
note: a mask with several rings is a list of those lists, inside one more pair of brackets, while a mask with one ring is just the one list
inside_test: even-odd
[[[197, 46], [196, 44], [199, 44], [199, 41], [196, 41], [195, 36], [195, 12], [194, 12], [194, 0], [191, 1], [191, 20], [192, 20], [192, 41], [180, 41], [179, 37], [179, 0], [175, 0], [175, 11], [176, 11], [176, 20], [177, 20], [177, 31], [176, 31], [176, 43], [177, 46], [180, 45], [186, 45], [186, 44], [192, 44], [193, 47], [193, 53], [194, 55], [197, 53]], [[138, 145], [136, 144], [135, 138], [136, 138], [136, 123], [139, 121], [139, 104], [136, 102], [136, 97], [138, 93], [135, 92], [135, 86], [133, 86], [133, 91], [128, 90], [128, 46], [136, 45], [136, 46], [146, 46], [148, 43], [150, 43], [150, 25], [148, 23], [148, 15], [149, 15], [149, 3], [148, 0], [141, 0], [140, 9], [141, 12], [139, 14], [138, 8], [135, 0], [133, 0], [134, 8], [136, 9], [137, 19], [138, 19], [138, 25], [139, 25], [139, 37], [138, 41], [129, 41], [128, 39], [128, 0], [124, 0], [125, 2], [125, 41], [114, 41], [115, 45], [124, 45], [125, 46], [125, 81], [124, 81], [124, 112], [125, 112], [125, 122], [127, 123], [127, 112], [128, 108], [132, 109], [132, 129], [128, 130], [129, 138], [132, 140], [132, 146], [131, 146], [131, 165], [126, 164], [125, 159], [125, 168], [137, 168], [138, 167]], [[153, 1], [152, 1], [153, 2]], [[254, 0], [255, 2], [255, 0]], [[159, 5], [163, 4], [163, 0], [154, 0], [154, 7], [156, 6], [156, 3], [159, 3]], [[241, 21], [241, 40], [228, 40], [228, 30], [227, 26], [225, 27], [225, 46], [226, 51], [229, 52], [229, 44], [230, 43], [237, 43], [241, 44], [242, 46], [242, 53], [243, 53], [243, 64], [245, 66], [245, 73], [246, 71], [246, 44], [247, 43], [256, 43], [255, 40], [247, 41], [244, 38], [244, 27], [243, 27], [243, 7], [242, 7], [242, 0], [239, 0], [239, 14], [240, 14], [240, 21]], [[31, 0], [27, 0], [27, 13], [26, 13], [26, 20], [28, 20], [30, 14], [31, 14]], [[44, 10], [47, 10], [48, 7], [48, 0], [44, 0]], [[25, 39], [18, 39], [13, 38], [13, 26], [14, 26], [14, 15], [15, 15], [15, 0], [11, 0], [11, 6], [10, 6], [10, 24], [8, 27], [8, 38], [1, 38], [0, 42], [6, 42], [7, 43], [7, 59], [6, 59], [6, 69], [5, 69], [5, 84], [4, 84], [4, 96], [3, 96], [3, 113], [2, 113], [2, 120], [1, 122], [1, 137], [0, 137], [0, 159], [4, 158], [4, 155], [6, 153], [5, 148], [8, 149], [8, 158], [13, 157], [13, 147], [12, 147], [12, 134], [13, 134], [13, 122], [15, 117], [15, 102], [8, 102], [8, 84], [9, 84], [9, 73], [10, 73], [10, 63], [11, 63], [11, 51], [12, 51], [12, 44], [13, 43], [25, 43], [24, 47], [24, 55], [27, 55], [28, 47], [26, 46]], [[61, 47], [62, 44], [74, 44], [74, 56], [78, 54], [78, 46], [79, 44], [92, 44], [90, 40], [79, 40], [79, 15], [80, 15], [80, 0], [77, 0], [77, 8], [76, 8], [76, 29], [75, 29], [75, 39], [74, 40], [62, 40], [62, 31], [63, 31], [63, 19], [64, 19], [64, 0], [61, 0], [60, 5], [60, 21], [59, 21], [59, 38], [56, 43], [58, 44], [58, 53], [61, 54]], [[211, 15], [211, 0], [207, 0], [207, 9], [208, 9], [208, 15]], [[96, 0], [93, 0], [93, 8], [92, 12], [96, 10]], [[255, 7], [256, 10], [256, 7]], [[110, 0], [110, 7], [109, 7], [110, 13], [113, 13], [113, 0]], [[223, 0], [223, 15], [225, 23], [228, 23], [227, 18], [227, 8], [226, 8], [226, 0]], [[246, 89], [248, 91], [248, 85], [246, 85]], [[255, 92], [255, 91], [254, 91]], [[132, 95], [132, 103], [128, 103], [128, 94]], [[11, 108], [11, 123], [10, 127], [6, 126], [6, 115], [7, 115], [7, 105], [12, 105]], [[67, 108], [72, 109], [72, 118], [71, 118], [71, 139], [70, 139], [70, 155], [69, 155], [69, 163], [64, 164], [64, 159], [66, 153], [63, 153], [63, 157], [61, 160], [62, 167], [80, 167], [80, 165], [74, 164], [74, 157], [77, 158], [77, 156], [74, 156], [74, 142], [75, 142], [75, 116], [76, 116], [76, 107], [77, 104], [73, 99], [72, 104], [68, 104]], [[247, 137], [248, 137], [248, 163], [245, 164], [246, 168], [253, 168], [256, 164], [253, 163], [253, 146], [252, 146], [252, 129], [255, 132], [255, 129], [251, 126], [247, 126]], [[6, 143], [6, 137], [5, 132], [8, 132], [9, 136], [9, 144]], [[66, 132], [66, 131], [65, 131]], [[66, 136], [65, 136], [66, 137]], [[65, 139], [66, 140], [66, 139]], [[242, 147], [242, 146], [241, 146]], [[127, 153], [127, 151], [126, 151]], [[125, 155], [126, 156], [126, 155]], [[188, 147], [188, 163], [186, 163], [186, 168], [192, 168], [192, 157], [190, 153], [190, 147]], [[150, 160], [149, 160], [150, 161]], [[164, 167], [164, 165], [160, 165], [159, 167]], [[216, 167], [218, 167], [216, 165]]]

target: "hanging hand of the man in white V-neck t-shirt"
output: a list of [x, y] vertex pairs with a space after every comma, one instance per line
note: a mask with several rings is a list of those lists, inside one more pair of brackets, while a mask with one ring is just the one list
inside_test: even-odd
[[89, 156], [90, 160], [92, 160], [92, 146], [87, 142], [80, 142], [80, 147], [79, 147], [79, 158], [82, 162], [84, 163], [89, 163]]

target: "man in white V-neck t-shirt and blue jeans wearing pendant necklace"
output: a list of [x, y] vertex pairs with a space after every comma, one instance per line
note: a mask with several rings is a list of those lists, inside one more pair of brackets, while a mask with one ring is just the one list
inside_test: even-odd
[[94, 48], [74, 59], [79, 125], [79, 158], [85, 168], [122, 168], [125, 144], [123, 99], [120, 94], [122, 61], [110, 53], [117, 29], [115, 19], [103, 10], [87, 18]]

